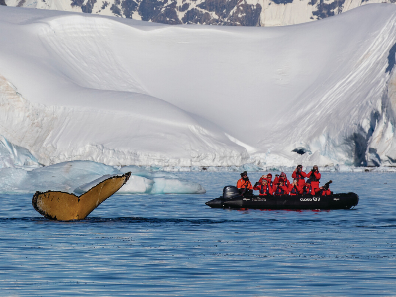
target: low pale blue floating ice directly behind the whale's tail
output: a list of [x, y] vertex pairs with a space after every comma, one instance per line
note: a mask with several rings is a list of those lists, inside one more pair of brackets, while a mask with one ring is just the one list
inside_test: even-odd
[[135, 169], [118, 194], [201, 194], [206, 190], [199, 184], [165, 172], [148, 172], [137, 166], [119, 169], [93, 162], [70, 161], [30, 171], [21, 168], [0, 169], [0, 193], [35, 193], [48, 190], [83, 194], [111, 177]]

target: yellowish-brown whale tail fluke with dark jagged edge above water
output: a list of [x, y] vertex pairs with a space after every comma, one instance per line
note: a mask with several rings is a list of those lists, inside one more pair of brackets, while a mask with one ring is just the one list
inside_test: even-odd
[[104, 200], [117, 192], [129, 179], [131, 172], [113, 176], [82, 194], [80, 197], [61, 191], [37, 191], [32, 205], [50, 220], [71, 221], [87, 217]]

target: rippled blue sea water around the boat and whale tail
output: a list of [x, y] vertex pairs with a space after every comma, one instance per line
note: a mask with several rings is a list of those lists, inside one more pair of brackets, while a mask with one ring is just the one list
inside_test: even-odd
[[114, 195], [78, 222], [0, 195], [0, 296], [396, 296], [395, 173], [322, 173], [359, 194], [334, 211], [211, 209], [239, 174], [178, 175], [207, 193]]

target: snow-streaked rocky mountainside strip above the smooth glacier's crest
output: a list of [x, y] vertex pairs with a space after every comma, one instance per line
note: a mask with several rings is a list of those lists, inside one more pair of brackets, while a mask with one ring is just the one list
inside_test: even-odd
[[396, 0], [0, 0], [0, 5], [80, 11], [164, 24], [281, 26]]

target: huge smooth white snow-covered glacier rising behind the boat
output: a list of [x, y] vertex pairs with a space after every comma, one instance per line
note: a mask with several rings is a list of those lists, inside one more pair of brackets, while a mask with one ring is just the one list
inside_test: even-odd
[[0, 6], [0, 28], [7, 160], [396, 165], [393, 4], [271, 28]]

